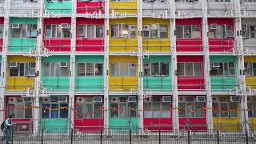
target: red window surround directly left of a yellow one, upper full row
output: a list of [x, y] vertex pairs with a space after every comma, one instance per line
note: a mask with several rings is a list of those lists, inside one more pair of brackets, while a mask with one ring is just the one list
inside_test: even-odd
[[[82, 17], [78, 17], [77, 29], [78, 29], [78, 25], [104, 25], [104, 20], [85, 19]], [[97, 38], [97, 39], [78, 38], [78, 32], [76, 37], [77, 37], [76, 51], [95, 51], [95, 52], [104, 51], [104, 38]]]

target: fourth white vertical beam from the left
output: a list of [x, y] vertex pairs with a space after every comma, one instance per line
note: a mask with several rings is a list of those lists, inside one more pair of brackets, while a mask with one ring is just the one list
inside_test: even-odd
[[[108, 109], [109, 104], [109, 95], [108, 95], [108, 60], [109, 60], [109, 1], [105, 1], [105, 15], [104, 19], [104, 109]], [[104, 111], [104, 129], [108, 129], [108, 111]], [[104, 133], [107, 133], [108, 130], [104, 130]]]

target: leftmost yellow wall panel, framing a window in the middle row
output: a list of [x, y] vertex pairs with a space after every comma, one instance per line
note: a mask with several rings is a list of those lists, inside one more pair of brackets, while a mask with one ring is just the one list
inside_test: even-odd
[[[9, 62], [35, 62], [34, 57], [24, 57], [24, 56], [9, 56]], [[7, 91], [22, 91], [27, 88], [34, 87], [34, 77], [25, 77], [25, 76], [10, 76], [10, 68], [8, 67], [7, 73]]]

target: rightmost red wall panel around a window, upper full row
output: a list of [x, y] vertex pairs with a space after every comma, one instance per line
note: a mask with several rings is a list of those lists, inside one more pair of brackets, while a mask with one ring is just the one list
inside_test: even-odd
[[[208, 25], [212, 23], [216, 23], [217, 25], [232, 25], [232, 31], [234, 32], [234, 22], [233, 19], [228, 18], [209, 18]], [[232, 51], [231, 49], [234, 48], [234, 38], [224, 38], [224, 39], [209, 39], [209, 50], [214, 51]]]

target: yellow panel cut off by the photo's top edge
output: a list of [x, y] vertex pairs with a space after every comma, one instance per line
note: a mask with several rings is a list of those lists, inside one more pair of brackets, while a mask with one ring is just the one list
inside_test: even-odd
[[137, 13], [137, 0], [134, 2], [110, 2], [109, 13], [126, 13], [136, 14]]

